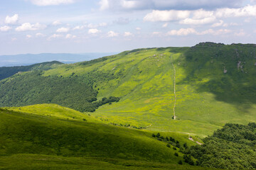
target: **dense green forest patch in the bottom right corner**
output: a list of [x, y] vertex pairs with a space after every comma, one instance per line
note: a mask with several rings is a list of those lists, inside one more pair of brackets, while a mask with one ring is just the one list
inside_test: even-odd
[[220, 169], [256, 169], [256, 123], [226, 124], [206, 137], [190, 154], [199, 166]]

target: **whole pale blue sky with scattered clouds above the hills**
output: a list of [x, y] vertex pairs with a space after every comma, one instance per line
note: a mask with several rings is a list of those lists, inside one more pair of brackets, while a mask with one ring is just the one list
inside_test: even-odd
[[256, 0], [0, 1], [0, 55], [256, 43]]

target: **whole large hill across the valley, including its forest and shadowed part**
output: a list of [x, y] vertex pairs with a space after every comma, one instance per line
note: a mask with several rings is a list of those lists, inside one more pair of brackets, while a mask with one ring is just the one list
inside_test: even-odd
[[95, 100], [114, 96], [119, 102], [91, 114], [107, 124], [206, 137], [225, 123], [256, 120], [255, 55], [255, 45], [213, 42], [126, 51], [4, 79], [0, 106], [57, 103], [94, 111]]

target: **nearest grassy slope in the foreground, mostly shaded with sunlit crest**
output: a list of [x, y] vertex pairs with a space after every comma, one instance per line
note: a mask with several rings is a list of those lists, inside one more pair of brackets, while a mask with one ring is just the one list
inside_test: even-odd
[[183, 155], [151, 132], [55, 104], [1, 109], [0, 133], [0, 169], [202, 169], [177, 165]]

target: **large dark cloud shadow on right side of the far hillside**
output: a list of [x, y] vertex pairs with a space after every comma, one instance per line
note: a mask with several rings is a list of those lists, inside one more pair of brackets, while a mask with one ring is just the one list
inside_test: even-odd
[[200, 43], [184, 55], [186, 79], [180, 84], [189, 82], [198, 92], [215, 94], [216, 100], [233, 104], [241, 111], [256, 104], [255, 45]]

